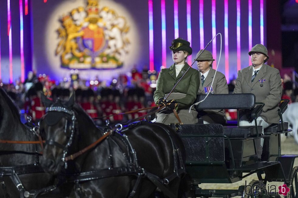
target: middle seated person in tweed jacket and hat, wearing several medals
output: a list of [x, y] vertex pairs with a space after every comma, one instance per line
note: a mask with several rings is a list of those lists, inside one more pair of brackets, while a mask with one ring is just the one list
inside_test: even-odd
[[[197, 56], [202, 52], [200, 50]], [[226, 77], [223, 73], [217, 71], [215, 74], [215, 69], [212, 68], [212, 63], [214, 61], [213, 56], [210, 51], [204, 50], [202, 54], [196, 59], [197, 66], [200, 71], [200, 86], [198, 94], [207, 94], [209, 89], [211, 89], [210, 94], [228, 94], [228, 85]], [[202, 76], [204, 78], [202, 79]], [[206, 76], [206, 77], [205, 77]], [[214, 79], [213, 85], [211, 83]], [[207, 89], [208, 88], [208, 89]], [[198, 115], [203, 118], [204, 124], [225, 124], [227, 118], [225, 116], [223, 109], [210, 109], [198, 111]]]

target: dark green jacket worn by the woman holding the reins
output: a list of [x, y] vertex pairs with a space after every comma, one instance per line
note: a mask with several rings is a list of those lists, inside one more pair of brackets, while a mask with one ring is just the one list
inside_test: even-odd
[[[179, 75], [176, 77], [175, 64], [170, 68], [161, 69], [158, 76], [156, 91], [154, 92], [154, 101], [157, 104], [160, 98], [164, 98], [165, 94], [169, 93], [182, 75], [189, 68], [189, 65], [185, 62]], [[181, 99], [176, 99], [179, 109], [187, 109], [196, 101], [196, 95], [199, 89], [199, 71], [190, 68], [185, 74], [181, 82], [173, 90], [174, 93], [185, 93], [186, 96]]]

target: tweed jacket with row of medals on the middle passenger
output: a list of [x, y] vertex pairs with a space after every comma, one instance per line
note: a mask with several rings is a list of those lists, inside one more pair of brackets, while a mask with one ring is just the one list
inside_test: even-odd
[[[213, 78], [214, 78], [214, 82], [213, 82], [212, 88], [213, 88], [214, 94], [228, 94], [229, 93], [227, 80], [226, 80], [226, 77], [224, 76], [224, 74], [219, 71], [216, 72], [216, 76], [214, 76], [214, 74], [215, 74], [215, 69], [210, 67], [209, 73], [204, 81], [203, 86], [202, 86], [202, 83], [200, 83], [198, 94], [205, 94], [204, 87], [211, 86]], [[200, 73], [199, 79], [201, 79], [201, 73]], [[199, 80], [199, 81], [201, 82], [201, 80]], [[208, 100], [208, 97], [206, 100]], [[218, 115], [223, 116], [224, 119], [227, 121], [223, 109], [213, 109], [213, 110], [209, 109], [209, 110], [204, 110], [204, 112], [206, 112], [207, 114], [217, 113]], [[216, 120], [214, 120], [214, 122], [216, 122]]]

